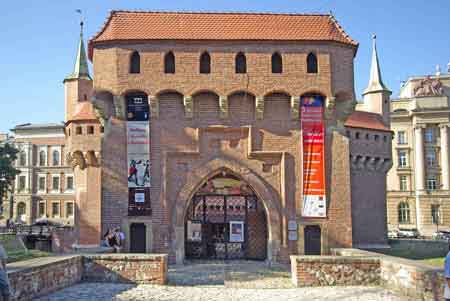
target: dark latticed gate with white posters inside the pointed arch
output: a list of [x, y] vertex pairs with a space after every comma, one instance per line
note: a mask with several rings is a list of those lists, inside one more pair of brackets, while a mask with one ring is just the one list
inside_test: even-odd
[[245, 181], [220, 172], [190, 200], [184, 241], [187, 259], [265, 260], [267, 219], [262, 202]]

